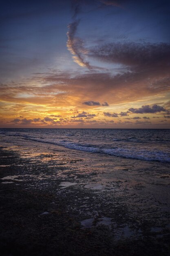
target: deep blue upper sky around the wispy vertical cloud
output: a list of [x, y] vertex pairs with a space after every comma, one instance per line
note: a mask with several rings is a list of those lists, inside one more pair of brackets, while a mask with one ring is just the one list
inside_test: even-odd
[[70, 65], [76, 69], [69, 63], [66, 49], [67, 25], [76, 18], [81, 19], [76, 36], [84, 40], [86, 47], [122, 41], [169, 43], [169, 1], [117, 1], [114, 5], [115, 2], [2, 2], [1, 77], [55, 68], [60, 59], [67, 62], [62, 69]]

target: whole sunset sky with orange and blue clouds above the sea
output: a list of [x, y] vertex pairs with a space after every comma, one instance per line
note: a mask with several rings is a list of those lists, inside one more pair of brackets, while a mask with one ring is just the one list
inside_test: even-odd
[[170, 1], [6, 0], [0, 128], [170, 128]]

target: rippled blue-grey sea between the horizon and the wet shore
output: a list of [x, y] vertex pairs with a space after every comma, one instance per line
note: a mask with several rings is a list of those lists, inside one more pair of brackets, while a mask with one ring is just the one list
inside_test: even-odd
[[170, 129], [0, 129], [0, 135], [91, 153], [170, 162]]

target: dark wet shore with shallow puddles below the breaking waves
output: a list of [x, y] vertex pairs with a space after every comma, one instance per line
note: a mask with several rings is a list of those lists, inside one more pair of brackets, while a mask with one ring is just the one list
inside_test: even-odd
[[170, 255], [169, 164], [2, 138], [3, 256]]

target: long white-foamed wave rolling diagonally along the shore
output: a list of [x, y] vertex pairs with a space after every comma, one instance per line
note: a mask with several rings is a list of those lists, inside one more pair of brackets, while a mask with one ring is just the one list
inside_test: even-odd
[[[145, 161], [159, 161], [159, 162], [170, 162], [170, 154], [167, 152], [164, 152], [162, 150], [153, 150], [153, 148], [148, 149], [141, 146], [135, 146], [131, 145], [127, 147], [123, 147], [120, 145], [115, 146], [98, 146], [98, 145], [92, 145], [92, 144], [81, 144], [81, 143], [75, 143], [73, 141], [63, 139], [63, 140], [57, 140], [54, 139], [44, 139], [43, 137], [35, 138], [31, 137], [30, 135], [24, 135], [22, 133], [13, 133], [6, 134], [9, 136], [19, 136], [22, 139], [31, 140], [31, 141], [37, 141], [41, 143], [47, 143], [47, 144], [53, 144], [57, 146], [64, 146], [65, 148], [70, 148], [73, 150], [81, 150], [86, 151], [89, 153], [102, 153], [106, 155], [113, 155], [117, 157], [126, 157], [126, 158], [132, 158], [132, 159], [139, 159], [139, 160], [145, 160]], [[132, 140], [135, 137], [130, 137], [128, 140]], [[136, 138], [135, 138], [136, 139]], [[125, 140], [125, 139], [121, 139]], [[117, 139], [118, 141], [118, 139]]]

